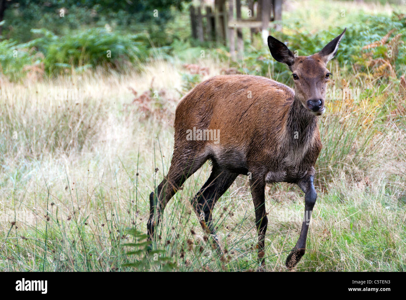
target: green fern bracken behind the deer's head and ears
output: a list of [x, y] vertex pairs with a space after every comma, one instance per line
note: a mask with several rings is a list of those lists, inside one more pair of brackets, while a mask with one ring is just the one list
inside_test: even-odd
[[[326, 44], [334, 39], [340, 30], [344, 28], [330, 28], [330, 30], [323, 30], [317, 33], [310, 33], [308, 31], [298, 31], [300, 24], [292, 24], [289, 30], [294, 34], [285, 34], [281, 32], [272, 32], [271, 35], [287, 44], [290, 50], [297, 50], [297, 54], [311, 55], [320, 51]], [[367, 61], [362, 58], [363, 46], [369, 45], [375, 41], [379, 41], [389, 33], [390, 30], [395, 28], [395, 34], [406, 32], [406, 17], [402, 15], [393, 14], [391, 17], [386, 16], [370, 16], [365, 15], [360, 20], [352, 22], [347, 26], [346, 34], [340, 43], [340, 50], [335, 57], [339, 62], [341, 68], [350, 70], [351, 63], [358, 63], [362, 66], [360, 72], [366, 72]], [[257, 37], [258, 38], [258, 37]], [[403, 74], [406, 72], [406, 35], [403, 34], [400, 39], [402, 42], [399, 44], [399, 52], [396, 57], [395, 72]], [[282, 83], [293, 83], [289, 79], [290, 72], [287, 67], [281, 63], [276, 62], [270, 55], [269, 49], [263, 45], [259, 49], [250, 47], [248, 41], [246, 42], [245, 49], [248, 49], [244, 55], [244, 65], [240, 67], [240, 72], [252, 75], [272, 76]], [[374, 57], [385, 57], [388, 48], [382, 46], [381, 48], [374, 49]]]

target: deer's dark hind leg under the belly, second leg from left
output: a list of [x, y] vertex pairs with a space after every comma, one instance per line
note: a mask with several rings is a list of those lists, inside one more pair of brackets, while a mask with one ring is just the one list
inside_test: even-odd
[[216, 204], [222, 194], [227, 191], [237, 176], [238, 174], [236, 173], [231, 173], [226, 170], [221, 171], [216, 164], [213, 164], [212, 173], [210, 174], [209, 179], [207, 179], [203, 187], [190, 201], [203, 230], [212, 235], [216, 242], [216, 245], [214, 246], [216, 246], [217, 249], [219, 249], [219, 245], [215, 235], [212, 211], [214, 204]]

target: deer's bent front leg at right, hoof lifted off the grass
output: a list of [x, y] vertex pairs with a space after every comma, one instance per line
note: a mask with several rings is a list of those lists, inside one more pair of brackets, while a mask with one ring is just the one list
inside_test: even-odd
[[302, 230], [300, 230], [300, 236], [296, 243], [296, 246], [292, 249], [289, 256], [286, 259], [286, 267], [292, 269], [296, 263], [304, 255], [306, 250], [306, 238], [307, 231], [309, 230], [309, 222], [311, 213], [313, 211], [314, 204], [316, 203], [317, 193], [313, 185], [314, 176], [310, 175], [298, 182], [298, 186], [304, 191], [304, 218], [302, 223]]

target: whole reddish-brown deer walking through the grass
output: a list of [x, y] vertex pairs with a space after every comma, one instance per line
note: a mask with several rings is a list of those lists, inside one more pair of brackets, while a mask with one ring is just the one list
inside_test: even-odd
[[[214, 204], [239, 174], [250, 175], [260, 268], [264, 264], [268, 224], [266, 183], [296, 183], [302, 189], [305, 193], [302, 230], [286, 266], [291, 269], [298, 263], [306, 249], [317, 197], [314, 165], [322, 148], [317, 122], [325, 111], [330, 76], [326, 65], [337, 53], [345, 31], [320, 52], [306, 57], [295, 57], [284, 43], [268, 37], [272, 57], [287, 64], [293, 73], [294, 90], [265, 77], [225, 75], [200, 83], [181, 100], [175, 114], [171, 167], [149, 197], [149, 240], [168, 201], [209, 159], [212, 173], [191, 200], [193, 209], [203, 229], [217, 242], [212, 220]], [[202, 130], [208, 138], [203, 137]], [[213, 133], [217, 133], [217, 139]]]

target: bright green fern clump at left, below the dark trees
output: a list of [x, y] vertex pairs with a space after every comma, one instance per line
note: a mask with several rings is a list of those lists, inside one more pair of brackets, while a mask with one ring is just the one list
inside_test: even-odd
[[133, 65], [137, 68], [149, 53], [145, 43], [140, 41], [143, 35], [112, 33], [106, 28], [92, 28], [62, 37], [46, 29], [31, 31], [42, 36], [25, 45], [36, 46], [44, 54], [45, 70], [50, 74], [96, 66], [122, 69]]

